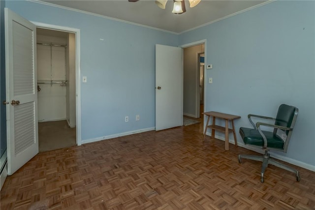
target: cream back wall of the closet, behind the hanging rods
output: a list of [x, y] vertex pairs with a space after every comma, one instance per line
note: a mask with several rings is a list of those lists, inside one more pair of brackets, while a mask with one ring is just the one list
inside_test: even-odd
[[[37, 43], [66, 45], [66, 39], [37, 34]], [[65, 48], [37, 44], [38, 121], [66, 118]]]

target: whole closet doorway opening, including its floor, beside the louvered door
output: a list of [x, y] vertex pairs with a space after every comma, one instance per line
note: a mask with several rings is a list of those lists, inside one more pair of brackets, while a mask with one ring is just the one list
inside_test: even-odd
[[36, 29], [39, 152], [77, 145], [75, 33]]

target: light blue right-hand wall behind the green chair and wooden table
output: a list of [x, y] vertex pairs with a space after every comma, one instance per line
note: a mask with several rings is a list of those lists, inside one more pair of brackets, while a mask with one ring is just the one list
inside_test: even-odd
[[[180, 35], [207, 39], [205, 111], [242, 118], [275, 116], [282, 103], [299, 108], [287, 157], [315, 166], [315, 1], [276, 1]], [[238, 141], [241, 137], [238, 134]]]

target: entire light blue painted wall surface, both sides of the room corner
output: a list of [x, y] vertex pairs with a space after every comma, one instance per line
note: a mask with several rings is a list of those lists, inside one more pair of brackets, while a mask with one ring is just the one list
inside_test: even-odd
[[[276, 1], [174, 35], [29, 1], [6, 1], [26, 19], [81, 30], [82, 140], [155, 126], [155, 44], [207, 39], [205, 111], [275, 116], [300, 110], [285, 154], [315, 166], [315, 2]], [[104, 39], [103, 41], [100, 41]], [[135, 121], [140, 114], [140, 121]], [[129, 116], [125, 123], [124, 117]], [[238, 141], [241, 142], [238, 134]]]

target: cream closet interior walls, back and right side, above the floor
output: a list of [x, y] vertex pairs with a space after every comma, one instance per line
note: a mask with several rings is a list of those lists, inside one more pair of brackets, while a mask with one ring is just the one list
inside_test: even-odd
[[75, 34], [37, 29], [38, 122], [76, 126]]

